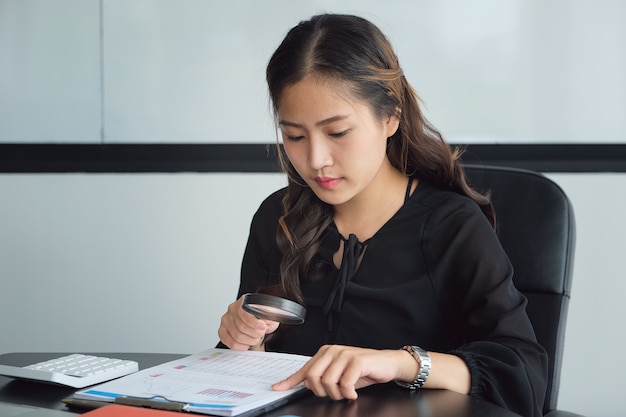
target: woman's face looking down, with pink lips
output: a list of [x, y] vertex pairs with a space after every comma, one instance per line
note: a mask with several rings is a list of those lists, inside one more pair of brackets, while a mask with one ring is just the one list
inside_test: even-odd
[[314, 77], [287, 87], [278, 118], [285, 152], [298, 174], [322, 201], [338, 206], [363, 196], [381, 168], [391, 166], [387, 138], [398, 119], [380, 120], [367, 103], [336, 87]]

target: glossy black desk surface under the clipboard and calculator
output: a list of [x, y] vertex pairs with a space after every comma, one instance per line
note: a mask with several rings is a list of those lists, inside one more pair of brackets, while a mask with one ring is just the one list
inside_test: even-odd
[[[64, 353], [7, 353], [0, 363], [25, 366]], [[139, 368], [168, 362], [185, 355], [159, 353], [95, 353], [95, 355], [130, 359]], [[37, 382], [13, 380], [0, 376], [0, 401], [32, 406], [65, 409], [61, 399], [76, 389]], [[287, 414], [301, 417], [519, 417], [491, 403], [451, 391], [410, 391], [395, 384], [375, 385], [359, 390], [357, 401], [332, 401], [307, 394], [269, 413], [265, 417]]]

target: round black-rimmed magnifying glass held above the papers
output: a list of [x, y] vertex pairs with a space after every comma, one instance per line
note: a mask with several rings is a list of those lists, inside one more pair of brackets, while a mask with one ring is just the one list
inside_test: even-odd
[[246, 294], [242, 307], [258, 319], [282, 324], [302, 324], [306, 316], [306, 308], [300, 304], [269, 294]]

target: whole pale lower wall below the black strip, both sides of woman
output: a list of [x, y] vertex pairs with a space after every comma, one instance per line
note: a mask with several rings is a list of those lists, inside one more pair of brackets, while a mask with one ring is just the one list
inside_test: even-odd
[[[559, 405], [621, 416], [626, 174], [550, 174], [577, 219]], [[280, 174], [0, 175], [0, 354], [192, 353], [235, 297]]]

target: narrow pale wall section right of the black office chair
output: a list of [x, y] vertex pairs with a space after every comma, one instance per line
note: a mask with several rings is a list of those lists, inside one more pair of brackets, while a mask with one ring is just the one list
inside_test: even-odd
[[623, 416], [626, 174], [548, 176], [572, 200], [577, 227], [559, 406], [586, 416]]

